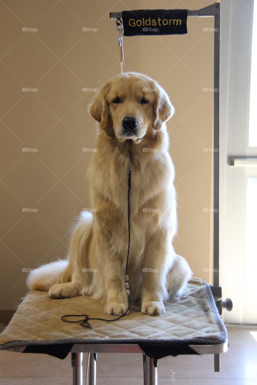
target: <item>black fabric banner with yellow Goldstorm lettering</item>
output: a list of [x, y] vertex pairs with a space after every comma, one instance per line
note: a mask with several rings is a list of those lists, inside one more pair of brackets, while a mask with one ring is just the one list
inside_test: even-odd
[[188, 33], [187, 9], [122, 11], [124, 36], [183, 35]]

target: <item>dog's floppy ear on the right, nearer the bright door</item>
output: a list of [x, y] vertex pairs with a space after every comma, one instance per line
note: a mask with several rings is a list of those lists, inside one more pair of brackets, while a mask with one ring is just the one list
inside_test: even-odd
[[154, 101], [153, 127], [156, 131], [159, 131], [162, 128], [162, 123], [172, 117], [175, 109], [164, 89], [162, 89], [159, 84], [155, 85], [155, 88], [157, 92]]

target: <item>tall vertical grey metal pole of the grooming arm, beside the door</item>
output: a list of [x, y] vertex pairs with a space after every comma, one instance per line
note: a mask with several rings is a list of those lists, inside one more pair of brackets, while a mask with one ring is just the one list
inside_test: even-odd
[[[219, 8], [220, 3], [215, 4]], [[214, 16], [213, 95], [213, 283], [219, 286], [220, 12]]]

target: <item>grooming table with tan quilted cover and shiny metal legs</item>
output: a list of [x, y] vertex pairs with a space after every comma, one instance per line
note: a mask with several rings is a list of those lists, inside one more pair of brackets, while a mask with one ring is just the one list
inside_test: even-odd
[[[193, 278], [181, 298], [165, 303], [166, 313], [148, 316], [140, 304], [108, 323], [91, 320], [92, 329], [65, 323], [64, 314], [108, 318], [101, 300], [74, 297], [51, 300], [48, 293], [30, 291], [0, 335], [0, 349], [47, 353], [64, 358], [72, 353], [73, 383], [82, 384], [82, 354], [88, 352], [88, 383], [96, 383], [96, 353], [143, 353], [145, 383], [157, 384], [157, 359], [178, 354], [215, 354], [227, 350], [227, 331], [220, 318], [211, 287]], [[83, 317], [81, 317], [83, 318]], [[75, 319], [75, 318], [74, 318]]]

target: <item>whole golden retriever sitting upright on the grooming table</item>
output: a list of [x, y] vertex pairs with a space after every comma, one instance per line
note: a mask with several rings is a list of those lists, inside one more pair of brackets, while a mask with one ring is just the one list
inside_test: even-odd
[[142, 313], [160, 315], [163, 301], [181, 295], [191, 277], [188, 263], [172, 247], [176, 194], [165, 122], [174, 108], [156, 81], [128, 72], [103, 85], [89, 112], [98, 122], [98, 151], [87, 172], [92, 212], [81, 213], [68, 259], [31, 272], [27, 285], [49, 291], [53, 299], [102, 298], [105, 313], [125, 313], [131, 169], [130, 298], [141, 302]]

